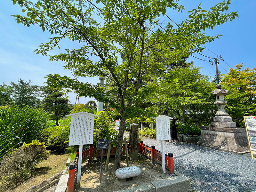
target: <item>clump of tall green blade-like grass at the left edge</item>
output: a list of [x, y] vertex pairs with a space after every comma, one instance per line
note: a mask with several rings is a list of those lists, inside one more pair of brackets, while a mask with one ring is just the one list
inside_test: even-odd
[[28, 106], [0, 109], [0, 159], [12, 148], [35, 139], [48, 120], [47, 112]]

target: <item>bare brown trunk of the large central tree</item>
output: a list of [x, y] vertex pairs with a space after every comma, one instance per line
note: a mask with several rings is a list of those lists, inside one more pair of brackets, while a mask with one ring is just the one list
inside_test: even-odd
[[125, 118], [121, 117], [120, 119], [120, 126], [118, 132], [118, 139], [116, 143], [116, 156], [115, 162], [112, 168], [112, 173], [116, 172], [118, 168], [120, 168], [121, 164], [121, 156], [122, 156], [122, 146], [123, 146], [123, 137], [124, 137], [124, 128], [125, 128]]

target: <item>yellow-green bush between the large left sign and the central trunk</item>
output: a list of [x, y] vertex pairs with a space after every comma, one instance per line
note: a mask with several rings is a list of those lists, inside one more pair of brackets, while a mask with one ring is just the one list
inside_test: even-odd
[[117, 140], [117, 131], [112, 128], [115, 125], [113, 119], [110, 118], [111, 112], [100, 111], [97, 115], [99, 117], [94, 119], [93, 143], [96, 143], [97, 139]]

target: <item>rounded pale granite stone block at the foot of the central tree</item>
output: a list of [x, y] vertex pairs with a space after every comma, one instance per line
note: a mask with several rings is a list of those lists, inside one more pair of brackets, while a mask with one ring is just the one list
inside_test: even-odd
[[127, 179], [131, 177], [137, 177], [140, 175], [141, 170], [139, 167], [132, 166], [132, 167], [124, 167], [119, 168], [116, 170], [116, 177], [118, 179]]

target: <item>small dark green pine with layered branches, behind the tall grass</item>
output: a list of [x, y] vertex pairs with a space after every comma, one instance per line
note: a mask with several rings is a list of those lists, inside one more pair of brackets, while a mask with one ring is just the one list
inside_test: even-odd
[[52, 113], [52, 120], [55, 120], [56, 126], [60, 126], [58, 120], [68, 115], [72, 109], [69, 105], [70, 101], [67, 98], [63, 98], [63, 92], [56, 89], [53, 90], [50, 87], [45, 87], [44, 94], [47, 96], [42, 100], [42, 108]]

